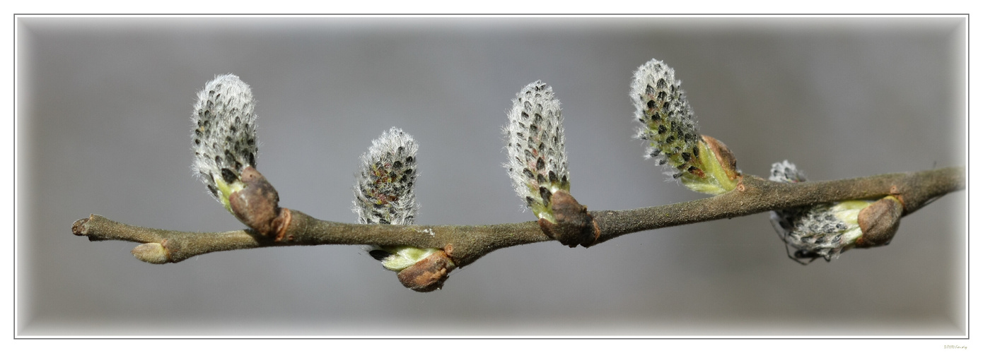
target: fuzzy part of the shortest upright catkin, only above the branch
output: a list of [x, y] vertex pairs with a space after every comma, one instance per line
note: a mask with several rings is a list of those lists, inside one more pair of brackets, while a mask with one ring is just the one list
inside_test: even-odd
[[413, 184], [417, 178], [417, 142], [392, 127], [372, 141], [362, 155], [355, 183], [353, 211], [359, 223], [412, 225], [417, 213]]

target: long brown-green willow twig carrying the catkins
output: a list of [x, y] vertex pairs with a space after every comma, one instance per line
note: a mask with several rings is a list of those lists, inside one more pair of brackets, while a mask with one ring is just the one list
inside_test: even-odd
[[[743, 176], [733, 191], [719, 196], [622, 211], [592, 211], [600, 230], [598, 244], [636, 231], [748, 216], [770, 210], [894, 195], [908, 215], [947, 193], [965, 187], [964, 168], [865, 176], [831, 181], [773, 182]], [[286, 210], [286, 209], [284, 209]], [[215, 251], [290, 245], [408, 245], [440, 248], [459, 267], [494, 250], [553, 240], [536, 222], [490, 226], [355, 225], [321, 221], [296, 210], [282, 236], [272, 238], [253, 229], [187, 232], [129, 226], [91, 215], [76, 221], [72, 232], [90, 241], [125, 240], [144, 243], [134, 249], [149, 263], [177, 263]]]

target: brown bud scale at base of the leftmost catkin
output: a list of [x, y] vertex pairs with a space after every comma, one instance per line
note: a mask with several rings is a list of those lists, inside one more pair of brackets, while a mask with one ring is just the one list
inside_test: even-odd
[[229, 195], [232, 214], [260, 234], [280, 240], [290, 223], [290, 210], [280, 208], [276, 189], [253, 166], [243, 169], [240, 179], [245, 186]]

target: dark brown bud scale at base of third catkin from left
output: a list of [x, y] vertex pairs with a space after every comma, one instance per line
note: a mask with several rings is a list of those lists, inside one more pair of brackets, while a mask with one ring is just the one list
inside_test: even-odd
[[587, 206], [578, 203], [566, 190], [557, 190], [552, 194], [550, 207], [556, 223], [540, 219], [540, 227], [547, 236], [558, 240], [560, 244], [588, 247], [601, 234], [594, 217], [587, 213]]

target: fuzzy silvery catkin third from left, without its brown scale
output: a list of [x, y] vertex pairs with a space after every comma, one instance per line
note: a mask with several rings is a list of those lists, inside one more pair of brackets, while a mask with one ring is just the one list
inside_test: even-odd
[[570, 189], [563, 117], [552, 87], [539, 80], [523, 87], [512, 100], [502, 132], [508, 153], [504, 167], [516, 194], [537, 217], [549, 218], [552, 193]]

